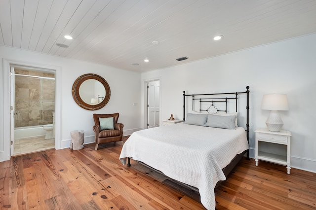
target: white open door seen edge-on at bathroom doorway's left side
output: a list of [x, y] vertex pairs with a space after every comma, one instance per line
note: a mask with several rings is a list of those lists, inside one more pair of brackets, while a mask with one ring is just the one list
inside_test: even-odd
[[14, 67], [10, 66], [11, 69], [11, 79], [10, 79], [10, 104], [11, 104], [11, 156], [14, 154], [14, 116], [15, 116], [15, 107], [14, 107], [14, 102], [15, 102], [15, 93], [14, 93]]

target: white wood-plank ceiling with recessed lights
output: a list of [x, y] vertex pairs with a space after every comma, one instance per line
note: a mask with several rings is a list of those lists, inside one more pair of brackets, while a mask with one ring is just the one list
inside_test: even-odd
[[0, 0], [0, 32], [0, 45], [145, 72], [316, 33], [316, 0]]

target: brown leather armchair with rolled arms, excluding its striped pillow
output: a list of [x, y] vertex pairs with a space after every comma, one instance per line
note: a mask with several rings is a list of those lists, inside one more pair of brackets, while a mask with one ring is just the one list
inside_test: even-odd
[[[118, 123], [118, 116], [119, 113], [114, 114], [93, 114], [94, 119], [94, 140], [95, 140], [95, 150], [98, 149], [100, 143], [108, 143], [108, 142], [115, 142], [115, 141], [122, 141], [123, 140], [123, 124]], [[100, 129], [100, 118], [108, 118], [114, 117], [114, 129], [109, 130], [101, 130]]]

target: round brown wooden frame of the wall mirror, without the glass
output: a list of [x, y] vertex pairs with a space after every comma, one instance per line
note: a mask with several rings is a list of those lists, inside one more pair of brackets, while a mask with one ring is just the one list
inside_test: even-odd
[[[103, 101], [100, 102], [99, 104], [96, 104], [96, 105], [87, 104], [81, 99], [81, 97], [79, 95], [80, 85], [88, 79], [95, 79], [95, 80], [101, 82], [105, 88], [105, 97], [104, 97]], [[87, 109], [87, 110], [97, 110], [97, 109], [104, 107], [105, 105], [108, 104], [110, 97], [111, 97], [111, 90], [110, 90], [110, 86], [109, 86], [108, 82], [102, 76], [99, 76], [99, 75], [94, 74], [94, 73], [87, 73], [87, 74], [83, 74], [83, 75], [79, 76], [76, 79], [76, 81], [74, 82], [72, 93], [73, 93], [73, 98], [74, 98], [75, 102], [80, 107]]]

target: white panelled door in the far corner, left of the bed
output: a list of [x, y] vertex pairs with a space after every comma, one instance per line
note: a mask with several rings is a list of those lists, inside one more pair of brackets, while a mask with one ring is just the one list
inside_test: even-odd
[[154, 128], [159, 126], [159, 110], [160, 110], [160, 102], [159, 102], [159, 81], [151, 81], [147, 83], [147, 107], [148, 107], [148, 128]]

